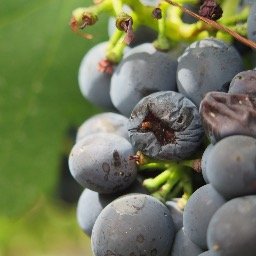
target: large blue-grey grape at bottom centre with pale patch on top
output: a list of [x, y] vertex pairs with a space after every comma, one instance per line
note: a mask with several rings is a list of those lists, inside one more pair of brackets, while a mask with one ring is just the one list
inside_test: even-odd
[[168, 208], [152, 196], [130, 194], [102, 210], [93, 226], [91, 242], [95, 256], [167, 256], [173, 239]]

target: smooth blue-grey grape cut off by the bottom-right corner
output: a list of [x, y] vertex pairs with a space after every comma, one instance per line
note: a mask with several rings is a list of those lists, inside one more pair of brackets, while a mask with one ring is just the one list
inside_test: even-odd
[[255, 256], [256, 196], [234, 198], [213, 215], [207, 244], [219, 256]]

